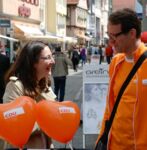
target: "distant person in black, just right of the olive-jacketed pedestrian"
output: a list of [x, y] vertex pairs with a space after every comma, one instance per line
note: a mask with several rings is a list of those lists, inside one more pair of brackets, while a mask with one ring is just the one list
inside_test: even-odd
[[78, 67], [78, 64], [80, 61], [80, 56], [78, 53], [78, 49], [76, 47], [73, 48], [71, 60], [72, 60], [72, 64], [73, 64], [73, 69], [74, 69], [74, 71], [77, 72], [77, 67]]

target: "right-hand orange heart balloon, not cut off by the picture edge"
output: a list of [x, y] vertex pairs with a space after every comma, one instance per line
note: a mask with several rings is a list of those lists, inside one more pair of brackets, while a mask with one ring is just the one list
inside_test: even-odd
[[80, 110], [71, 101], [40, 101], [36, 104], [36, 118], [40, 128], [58, 142], [69, 142], [80, 123]]

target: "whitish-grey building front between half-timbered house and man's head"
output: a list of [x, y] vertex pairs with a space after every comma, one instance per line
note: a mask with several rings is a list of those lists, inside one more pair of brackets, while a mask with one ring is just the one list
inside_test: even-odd
[[108, 0], [88, 0], [87, 34], [91, 44], [105, 44], [107, 37]]

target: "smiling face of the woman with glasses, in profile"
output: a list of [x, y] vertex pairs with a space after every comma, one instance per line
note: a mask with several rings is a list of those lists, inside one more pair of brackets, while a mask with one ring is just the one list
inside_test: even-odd
[[52, 52], [48, 46], [41, 51], [39, 61], [35, 64], [38, 81], [51, 75], [51, 67], [55, 63]]

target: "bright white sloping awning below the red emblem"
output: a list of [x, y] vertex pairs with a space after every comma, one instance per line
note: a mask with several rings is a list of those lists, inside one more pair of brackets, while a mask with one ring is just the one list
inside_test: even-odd
[[27, 25], [20, 25], [20, 24], [14, 24], [16, 28], [21, 30], [26, 37], [32, 36], [32, 35], [43, 35], [43, 32], [35, 26], [27, 26]]

